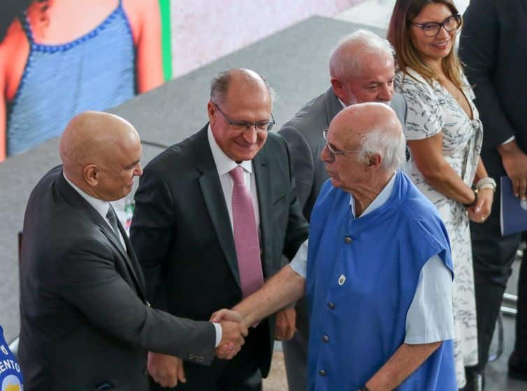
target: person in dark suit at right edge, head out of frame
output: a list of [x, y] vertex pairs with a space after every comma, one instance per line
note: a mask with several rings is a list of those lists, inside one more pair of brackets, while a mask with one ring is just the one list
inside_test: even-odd
[[[519, 98], [527, 85], [527, 1], [472, 0], [465, 12], [459, 55], [466, 64], [475, 103], [485, 129], [482, 158], [498, 182], [510, 177], [514, 195], [526, 199], [527, 117]], [[472, 378], [484, 375], [496, 318], [521, 234], [501, 236], [500, 198], [491, 217], [471, 224], [475, 274], [479, 363]], [[525, 232], [523, 233], [525, 235]], [[518, 279], [516, 343], [509, 357], [509, 376], [527, 380], [527, 266], [526, 253]]]

